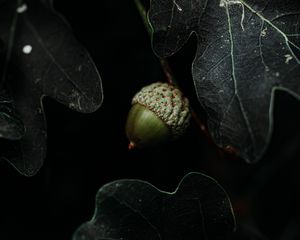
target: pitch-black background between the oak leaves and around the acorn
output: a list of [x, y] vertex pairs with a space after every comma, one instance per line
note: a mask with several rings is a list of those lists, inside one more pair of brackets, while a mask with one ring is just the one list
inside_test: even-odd
[[[274, 134], [264, 158], [246, 164], [215, 147], [192, 122], [180, 140], [128, 151], [124, 126], [131, 97], [165, 81], [133, 0], [54, 1], [86, 46], [102, 76], [104, 102], [93, 114], [44, 100], [48, 153], [39, 173], [21, 176], [0, 162], [0, 239], [71, 239], [92, 217], [97, 190], [120, 178], [138, 178], [173, 191], [191, 171], [214, 177], [227, 190], [238, 224], [267, 239], [300, 239], [300, 104], [276, 95]], [[190, 66], [196, 39], [170, 59], [200, 119]], [[259, 106], [258, 106], [259, 107]], [[256, 231], [256, 230], [255, 230]]]

